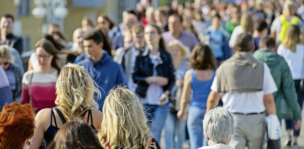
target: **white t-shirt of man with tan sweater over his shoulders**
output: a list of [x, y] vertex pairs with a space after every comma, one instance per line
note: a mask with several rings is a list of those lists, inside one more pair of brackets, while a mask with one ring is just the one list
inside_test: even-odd
[[[218, 92], [217, 77], [215, 76], [211, 85], [211, 90]], [[275, 81], [270, 74], [268, 66], [264, 63], [264, 80], [263, 90], [256, 92], [243, 92], [243, 93], [225, 93], [223, 94], [223, 107], [230, 112], [238, 113], [255, 113], [265, 111], [264, 95], [277, 91]]]

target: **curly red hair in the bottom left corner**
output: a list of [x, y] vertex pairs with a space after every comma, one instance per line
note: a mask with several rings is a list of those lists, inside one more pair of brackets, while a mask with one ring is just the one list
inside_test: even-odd
[[22, 149], [34, 134], [34, 112], [30, 104], [13, 102], [0, 112], [0, 149]]

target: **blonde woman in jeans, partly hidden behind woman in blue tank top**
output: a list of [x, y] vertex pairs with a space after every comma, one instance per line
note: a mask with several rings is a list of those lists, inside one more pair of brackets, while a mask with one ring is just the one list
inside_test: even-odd
[[175, 69], [175, 84], [170, 94], [170, 112], [165, 122], [165, 143], [166, 149], [173, 149], [174, 134], [177, 137], [175, 149], [182, 149], [185, 140], [186, 120], [180, 120], [176, 114], [179, 110], [179, 101], [184, 85], [184, 76], [188, 67], [188, 58], [190, 50], [180, 41], [173, 40], [169, 42], [168, 52], [171, 54]]

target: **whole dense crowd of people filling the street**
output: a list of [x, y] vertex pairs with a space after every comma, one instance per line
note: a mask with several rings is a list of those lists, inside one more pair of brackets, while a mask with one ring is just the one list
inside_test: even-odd
[[140, 0], [71, 42], [49, 24], [24, 68], [4, 14], [0, 149], [262, 149], [266, 115], [298, 148], [303, 20], [304, 0]]

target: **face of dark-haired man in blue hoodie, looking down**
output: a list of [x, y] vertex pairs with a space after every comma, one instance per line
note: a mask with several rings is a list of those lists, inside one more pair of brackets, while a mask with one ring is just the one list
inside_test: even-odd
[[102, 51], [102, 43], [96, 44], [92, 39], [83, 40], [83, 48], [89, 58], [96, 57]]

